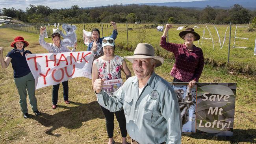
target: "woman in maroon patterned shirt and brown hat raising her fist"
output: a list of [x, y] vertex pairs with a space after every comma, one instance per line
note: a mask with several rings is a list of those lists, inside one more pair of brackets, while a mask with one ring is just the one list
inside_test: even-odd
[[173, 52], [175, 56], [170, 75], [174, 77], [173, 82], [189, 82], [189, 87], [192, 88], [198, 82], [204, 68], [202, 49], [193, 45], [194, 41], [200, 39], [200, 35], [193, 28], [187, 28], [179, 34], [185, 40], [184, 44], [169, 43], [166, 42], [166, 33], [170, 28], [172, 25], [166, 24], [160, 41], [160, 46]]

